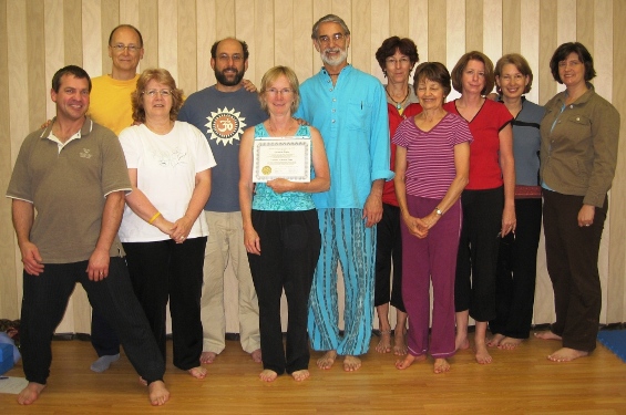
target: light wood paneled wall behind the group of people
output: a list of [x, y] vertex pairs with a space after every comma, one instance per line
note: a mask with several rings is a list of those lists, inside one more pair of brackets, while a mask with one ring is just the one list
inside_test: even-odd
[[[253, 82], [275, 64], [294, 68], [304, 81], [321, 65], [310, 29], [327, 13], [343, 18], [351, 30], [349, 62], [382, 82], [374, 52], [383, 39], [398, 34], [415, 41], [421, 61], [440, 61], [450, 69], [473, 49], [494, 62], [503, 53], [520, 52], [535, 74], [528, 98], [540, 104], [558, 90], [548, 70], [554, 49], [581, 41], [594, 55], [596, 91], [626, 114], [626, 79], [614, 77], [614, 69], [626, 63], [617, 42], [626, 38], [622, 0], [0, 0], [0, 189], [7, 188], [22, 139], [54, 114], [52, 74], [65, 64], [82, 65], [92, 76], [109, 73], [106, 42], [116, 24], [142, 31], [140, 69], [170, 70], [189, 94], [215, 82], [209, 49], [229, 35], [248, 43], [246, 77]], [[602, 321], [608, 323], [626, 321], [625, 152], [622, 145], [601, 250]], [[553, 319], [553, 304], [543, 243], [537, 269], [535, 322], [545, 323]], [[59, 331], [89, 332], [84, 292], [76, 292]], [[20, 301], [19, 249], [10, 201], [2, 199], [0, 318], [18, 318]], [[238, 331], [236, 309], [228, 314], [228, 331]]]

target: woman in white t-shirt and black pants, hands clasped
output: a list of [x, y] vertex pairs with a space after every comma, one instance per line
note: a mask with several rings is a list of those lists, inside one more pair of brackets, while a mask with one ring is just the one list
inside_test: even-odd
[[204, 378], [199, 301], [208, 228], [203, 208], [215, 159], [204, 135], [176, 121], [183, 91], [170, 72], [144, 71], [131, 97], [133, 120], [142, 124], [120, 134], [133, 186], [120, 239], [163, 359], [170, 301], [174, 365]]

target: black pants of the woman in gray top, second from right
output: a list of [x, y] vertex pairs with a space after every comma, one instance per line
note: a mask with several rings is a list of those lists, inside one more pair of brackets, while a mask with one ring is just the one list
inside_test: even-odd
[[514, 339], [527, 339], [530, 335], [535, 301], [541, 212], [541, 198], [515, 200], [515, 235], [509, 234], [500, 241], [495, 281], [496, 317], [489, 322], [493, 334]]

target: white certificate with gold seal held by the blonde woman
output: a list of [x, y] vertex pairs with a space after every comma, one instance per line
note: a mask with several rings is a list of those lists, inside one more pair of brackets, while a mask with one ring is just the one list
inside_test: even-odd
[[311, 180], [311, 141], [309, 137], [257, 138], [253, 145], [253, 181], [275, 178]]

